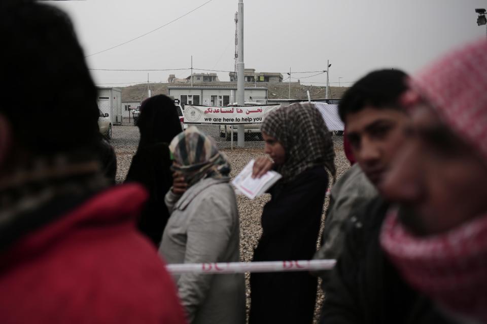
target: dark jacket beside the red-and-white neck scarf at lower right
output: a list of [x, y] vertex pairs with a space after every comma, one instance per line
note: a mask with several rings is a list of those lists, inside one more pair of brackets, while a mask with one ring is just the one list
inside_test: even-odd
[[348, 221], [343, 252], [325, 287], [322, 324], [452, 323], [406, 284], [380, 248], [388, 207], [377, 197]]

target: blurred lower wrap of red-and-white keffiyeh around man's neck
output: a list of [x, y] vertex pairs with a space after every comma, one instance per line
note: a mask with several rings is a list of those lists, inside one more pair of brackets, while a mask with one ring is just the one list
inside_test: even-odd
[[404, 278], [447, 309], [487, 322], [487, 217], [444, 234], [416, 237], [386, 218], [380, 244]]

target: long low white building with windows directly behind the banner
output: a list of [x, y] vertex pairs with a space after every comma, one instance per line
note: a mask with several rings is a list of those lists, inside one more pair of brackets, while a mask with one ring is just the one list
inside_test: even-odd
[[[181, 105], [226, 106], [236, 102], [236, 87], [167, 87], [168, 96], [179, 99]], [[245, 101], [267, 103], [267, 88], [246, 87]]]

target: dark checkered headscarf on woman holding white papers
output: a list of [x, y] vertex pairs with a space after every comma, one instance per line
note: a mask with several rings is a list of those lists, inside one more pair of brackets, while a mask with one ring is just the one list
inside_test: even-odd
[[333, 141], [315, 105], [296, 103], [276, 109], [264, 119], [261, 130], [286, 151], [285, 163], [276, 169], [283, 176], [280, 183], [316, 166], [324, 166], [335, 177]]

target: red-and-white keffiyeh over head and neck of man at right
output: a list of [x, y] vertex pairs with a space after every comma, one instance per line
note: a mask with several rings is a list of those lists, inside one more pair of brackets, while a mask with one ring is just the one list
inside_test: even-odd
[[[411, 79], [405, 105], [426, 101], [487, 163], [487, 42], [450, 53]], [[409, 284], [443, 307], [487, 323], [487, 214], [429, 237], [390, 211], [380, 243]]]

